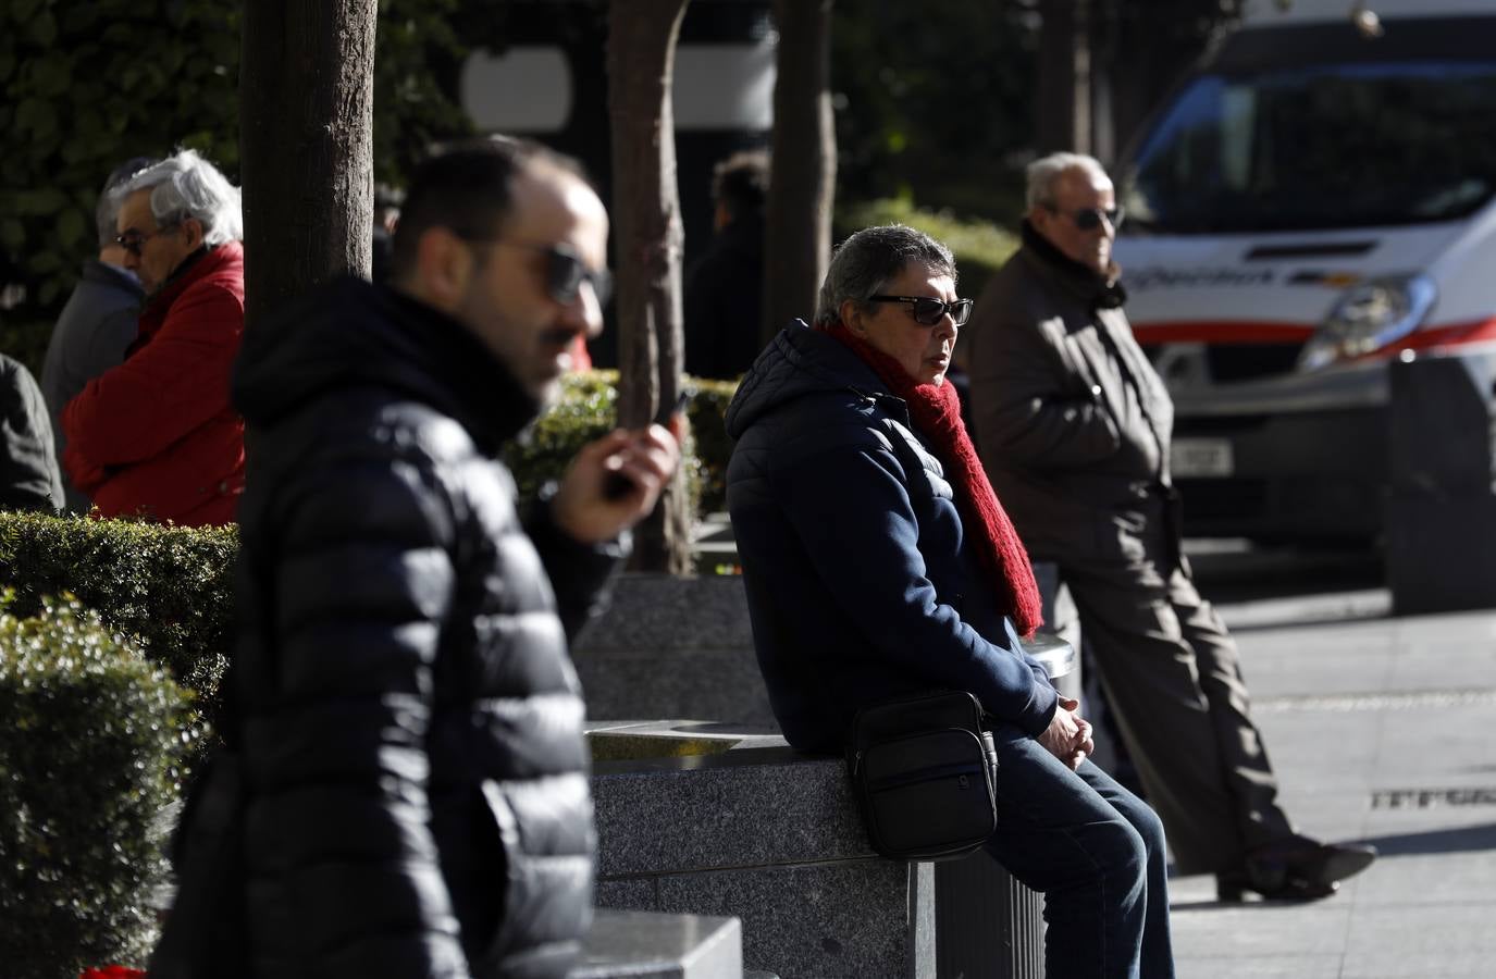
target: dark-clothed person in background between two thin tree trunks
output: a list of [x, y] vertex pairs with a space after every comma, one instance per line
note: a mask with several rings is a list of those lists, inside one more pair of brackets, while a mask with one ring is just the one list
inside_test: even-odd
[[763, 205], [769, 154], [735, 152], [712, 170], [712, 244], [685, 277], [685, 371], [736, 380], [763, 348]]

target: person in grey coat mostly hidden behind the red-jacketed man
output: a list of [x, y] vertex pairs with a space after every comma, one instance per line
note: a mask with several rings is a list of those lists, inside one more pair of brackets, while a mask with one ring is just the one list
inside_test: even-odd
[[[136, 318], [145, 293], [141, 280], [124, 268], [124, 248], [115, 241], [115, 215], [123, 197], [115, 193], [130, 176], [154, 160], [136, 157], [121, 163], [99, 193], [94, 224], [99, 232], [99, 256], [84, 262], [82, 275], [67, 305], [63, 306], [42, 362], [42, 395], [51, 414], [52, 442], [57, 463], [63, 460], [63, 408], [84, 386], [124, 360], [126, 348], [135, 342]], [[66, 480], [67, 508], [85, 513], [88, 496]]]

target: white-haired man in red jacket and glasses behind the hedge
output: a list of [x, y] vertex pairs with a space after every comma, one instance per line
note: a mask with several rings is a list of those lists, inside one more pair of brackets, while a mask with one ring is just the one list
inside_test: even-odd
[[183, 149], [130, 179], [117, 227], [148, 296], [124, 363], [63, 410], [63, 462], [105, 517], [232, 523], [244, 421], [229, 375], [244, 333], [239, 190]]

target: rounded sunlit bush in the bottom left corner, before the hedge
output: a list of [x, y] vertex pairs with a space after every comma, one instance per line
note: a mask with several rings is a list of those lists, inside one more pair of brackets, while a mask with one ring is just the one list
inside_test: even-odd
[[0, 613], [0, 963], [55, 979], [141, 963], [188, 695], [76, 605]]

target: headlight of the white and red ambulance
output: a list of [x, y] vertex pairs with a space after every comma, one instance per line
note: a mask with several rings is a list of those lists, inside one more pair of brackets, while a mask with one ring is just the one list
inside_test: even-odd
[[1438, 290], [1427, 275], [1385, 275], [1340, 293], [1330, 315], [1299, 354], [1300, 371], [1316, 371], [1369, 354], [1412, 333]]

